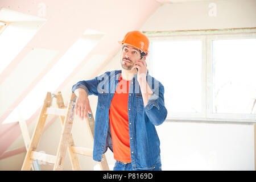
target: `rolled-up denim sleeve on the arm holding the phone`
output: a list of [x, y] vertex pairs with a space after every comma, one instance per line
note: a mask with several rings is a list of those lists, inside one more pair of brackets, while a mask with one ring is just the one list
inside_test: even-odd
[[144, 107], [150, 122], [153, 125], [161, 125], [167, 117], [167, 109], [164, 106], [164, 86], [159, 86], [150, 96], [147, 105]]

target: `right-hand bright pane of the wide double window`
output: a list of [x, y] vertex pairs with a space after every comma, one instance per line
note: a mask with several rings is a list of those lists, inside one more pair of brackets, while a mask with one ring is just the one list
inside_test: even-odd
[[212, 41], [212, 113], [255, 114], [256, 39]]

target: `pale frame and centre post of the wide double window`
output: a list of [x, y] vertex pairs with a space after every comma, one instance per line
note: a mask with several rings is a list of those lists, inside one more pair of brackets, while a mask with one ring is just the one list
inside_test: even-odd
[[[168, 111], [167, 120], [173, 121], [199, 121], [199, 122], [242, 122], [255, 123], [256, 114], [229, 114], [212, 113], [212, 41], [228, 39], [251, 39], [256, 38], [256, 28], [234, 28], [225, 30], [191, 30], [191, 31], [164, 31], [144, 32], [150, 39], [150, 52], [152, 52], [152, 41], [177, 41], [177, 40], [201, 40], [202, 41], [202, 113], [174, 113]], [[149, 52], [150, 67], [152, 57]], [[149, 68], [150, 68], [149, 67]], [[154, 77], [152, 69], [149, 70]], [[159, 80], [160, 81], [160, 80]], [[256, 106], [254, 106], [256, 107]], [[170, 117], [170, 115], [172, 115]]]

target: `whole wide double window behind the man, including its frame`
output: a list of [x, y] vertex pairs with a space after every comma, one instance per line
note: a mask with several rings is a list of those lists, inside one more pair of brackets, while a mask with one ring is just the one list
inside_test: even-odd
[[255, 122], [256, 28], [146, 35], [167, 119]]

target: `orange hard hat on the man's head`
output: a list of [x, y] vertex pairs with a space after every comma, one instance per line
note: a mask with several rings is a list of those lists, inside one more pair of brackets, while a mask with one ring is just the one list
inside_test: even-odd
[[136, 47], [143, 52], [148, 53], [149, 40], [146, 35], [141, 31], [131, 31], [125, 35], [123, 41], [118, 41], [120, 44], [128, 44], [130, 46]]

